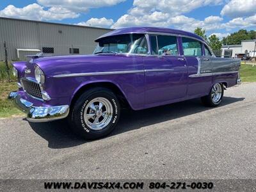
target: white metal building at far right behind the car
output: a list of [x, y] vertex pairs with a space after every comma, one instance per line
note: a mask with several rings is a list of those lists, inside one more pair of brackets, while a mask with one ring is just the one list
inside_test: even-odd
[[222, 57], [236, 58], [237, 54], [246, 54], [248, 56], [256, 56], [255, 52], [256, 39], [255, 40], [243, 40], [241, 45], [223, 45], [221, 47]]

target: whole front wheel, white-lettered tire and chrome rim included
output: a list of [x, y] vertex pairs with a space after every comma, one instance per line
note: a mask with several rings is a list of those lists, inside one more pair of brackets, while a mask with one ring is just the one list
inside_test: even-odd
[[85, 139], [102, 138], [113, 131], [119, 116], [120, 105], [115, 94], [106, 88], [93, 88], [74, 104], [70, 127]]

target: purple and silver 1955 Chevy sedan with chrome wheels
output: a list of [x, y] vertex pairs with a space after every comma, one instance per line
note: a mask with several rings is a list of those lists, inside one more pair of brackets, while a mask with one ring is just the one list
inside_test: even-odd
[[125, 28], [95, 40], [92, 55], [32, 56], [13, 63], [16, 106], [29, 122], [67, 118], [86, 139], [115, 128], [122, 106], [152, 108], [201, 97], [218, 106], [239, 84], [240, 61], [216, 58], [203, 38], [166, 28]]

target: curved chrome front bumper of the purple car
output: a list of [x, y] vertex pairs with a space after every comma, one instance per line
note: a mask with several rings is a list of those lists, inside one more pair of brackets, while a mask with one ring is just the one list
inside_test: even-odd
[[15, 106], [27, 113], [29, 122], [49, 122], [68, 116], [69, 106], [36, 107], [32, 102], [22, 99], [17, 92], [11, 92], [8, 99], [13, 100]]

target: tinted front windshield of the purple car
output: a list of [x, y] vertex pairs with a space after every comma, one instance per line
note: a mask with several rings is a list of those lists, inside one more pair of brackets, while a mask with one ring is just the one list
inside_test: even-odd
[[144, 34], [126, 34], [102, 38], [93, 54], [132, 53], [147, 54], [148, 46]]

